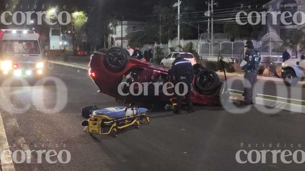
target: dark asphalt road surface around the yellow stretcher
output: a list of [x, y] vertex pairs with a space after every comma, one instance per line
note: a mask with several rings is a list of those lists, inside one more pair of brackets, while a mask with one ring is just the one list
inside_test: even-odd
[[[232, 114], [222, 107], [196, 107], [192, 114], [151, 113], [150, 125], [118, 132], [117, 138], [90, 136], [80, 125], [80, 109], [120, 104], [97, 93], [97, 87], [83, 70], [55, 64], [47, 76], [65, 84], [56, 88], [48, 81], [44, 86], [0, 88], [1, 115], [10, 149], [23, 149], [20, 144], [26, 143], [31, 150], [68, 150], [71, 161], [49, 164], [43, 155], [42, 163], [37, 163], [34, 153], [31, 164], [15, 164], [16, 170], [303, 170], [303, 164], [281, 162], [280, 154], [278, 163], [272, 163], [272, 155], [267, 155], [266, 164], [240, 164], [235, 158], [236, 152], [243, 149], [305, 151], [303, 114], [263, 114], [257, 110], [261, 106], [252, 106], [243, 114]], [[58, 97], [64, 108], [52, 113], [47, 109], [56, 106]], [[42, 109], [39, 102], [47, 109]], [[245, 145], [241, 147], [241, 143]], [[271, 148], [267, 147], [270, 143]], [[294, 146], [284, 147], [284, 143]]]

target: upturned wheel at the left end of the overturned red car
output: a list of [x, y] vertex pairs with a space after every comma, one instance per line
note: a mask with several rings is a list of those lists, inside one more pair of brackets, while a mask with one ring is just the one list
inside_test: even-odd
[[130, 54], [127, 50], [114, 47], [105, 54], [104, 64], [109, 71], [118, 73], [124, 70], [128, 57], [130, 57]]

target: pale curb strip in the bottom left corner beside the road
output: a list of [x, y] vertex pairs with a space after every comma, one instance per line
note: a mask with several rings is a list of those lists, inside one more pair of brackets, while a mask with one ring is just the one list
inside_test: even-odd
[[[10, 150], [7, 136], [5, 133], [4, 125], [3, 125], [3, 120], [0, 114], [0, 152], [4, 150]], [[1, 153], [0, 153], [1, 154]], [[0, 170], [1, 171], [15, 171], [15, 166], [12, 160], [11, 154], [4, 153], [4, 155], [0, 156], [0, 162], [2, 160], [7, 161], [6, 163], [0, 163]]]

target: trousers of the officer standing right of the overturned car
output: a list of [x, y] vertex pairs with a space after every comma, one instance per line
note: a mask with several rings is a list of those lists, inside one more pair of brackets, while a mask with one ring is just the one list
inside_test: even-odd
[[253, 97], [254, 93], [254, 85], [257, 82], [257, 73], [256, 71], [252, 72], [245, 72], [243, 75], [243, 78], [245, 78], [243, 82], [243, 95], [245, 96], [245, 99], [243, 100], [246, 104], [251, 104], [251, 102], [255, 103], [255, 97], [256, 93]]

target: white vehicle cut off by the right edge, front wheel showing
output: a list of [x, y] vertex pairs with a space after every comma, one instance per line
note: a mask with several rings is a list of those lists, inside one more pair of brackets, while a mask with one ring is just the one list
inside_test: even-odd
[[290, 59], [282, 64], [282, 76], [284, 83], [288, 86], [294, 86], [298, 81], [305, 78], [305, 56]]

